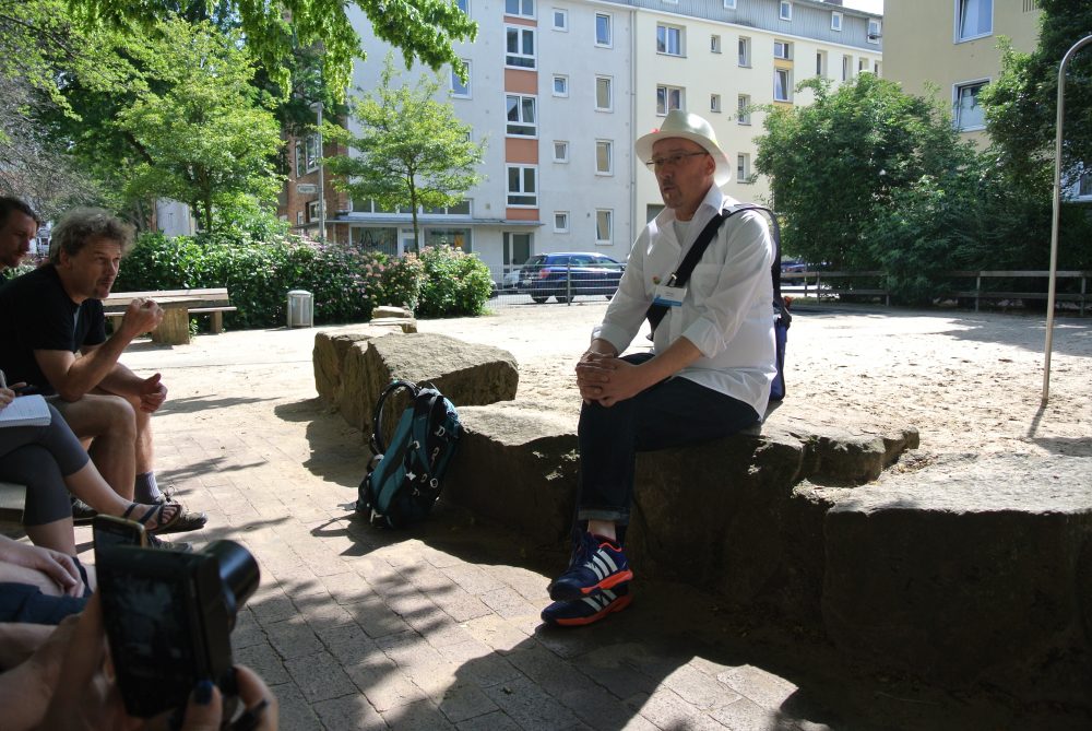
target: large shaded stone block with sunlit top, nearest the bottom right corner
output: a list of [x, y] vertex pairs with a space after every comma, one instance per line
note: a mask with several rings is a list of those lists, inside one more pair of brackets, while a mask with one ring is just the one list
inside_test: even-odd
[[965, 456], [854, 491], [826, 514], [828, 636], [949, 686], [1087, 699], [1092, 459]]

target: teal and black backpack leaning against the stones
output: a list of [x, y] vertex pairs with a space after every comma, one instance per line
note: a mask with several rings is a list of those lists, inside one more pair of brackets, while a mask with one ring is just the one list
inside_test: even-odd
[[[382, 435], [383, 405], [403, 389], [410, 392], [410, 404], [388, 444]], [[395, 380], [379, 397], [371, 423], [372, 458], [356, 511], [372, 524], [405, 528], [427, 517], [440, 496], [440, 481], [463, 434], [459, 413], [431, 385]]]

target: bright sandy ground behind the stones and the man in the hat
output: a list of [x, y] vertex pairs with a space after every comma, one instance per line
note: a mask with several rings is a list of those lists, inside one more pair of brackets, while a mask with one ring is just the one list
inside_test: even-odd
[[[575, 416], [573, 366], [605, 309], [593, 298], [515, 304], [419, 329], [511, 351], [517, 400]], [[771, 420], [865, 432], [916, 426], [923, 453], [1092, 456], [1092, 320], [1055, 321], [1043, 406], [1045, 332], [1044, 317], [1023, 315], [798, 308], [788, 397]]]

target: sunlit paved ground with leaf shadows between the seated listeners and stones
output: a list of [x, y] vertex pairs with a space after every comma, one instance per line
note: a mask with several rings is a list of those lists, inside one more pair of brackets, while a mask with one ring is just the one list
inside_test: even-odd
[[[638, 580], [626, 612], [550, 629], [538, 613], [556, 549], [442, 503], [406, 532], [354, 520], [367, 451], [316, 397], [314, 332], [139, 342], [123, 358], [169, 389], [154, 418], [159, 482], [210, 515], [178, 538], [232, 539], [260, 564], [233, 644], [276, 693], [282, 729], [940, 728], [928, 715], [941, 700], [885, 716], [890, 698], [847, 693], [821, 648], [749, 639], [691, 588]], [[802, 670], [807, 657], [827, 671]]]

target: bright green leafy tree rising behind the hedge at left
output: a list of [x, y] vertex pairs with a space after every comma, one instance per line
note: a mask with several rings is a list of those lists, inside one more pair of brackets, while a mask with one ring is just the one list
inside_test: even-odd
[[126, 191], [182, 201], [212, 231], [217, 207], [276, 196], [280, 128], [250, 84], [254, 66], [237, 34], [177, 19], [158, 31], [129, 46], [151, 83], [117, 116], [138, 153]]

